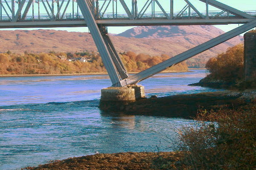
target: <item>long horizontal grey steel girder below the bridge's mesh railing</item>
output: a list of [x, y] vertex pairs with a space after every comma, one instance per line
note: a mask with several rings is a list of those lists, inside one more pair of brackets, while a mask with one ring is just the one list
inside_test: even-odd
[[[11, 20], [11, 18], [9, 18]], [[184, 26], [244, 24], [251, 19], [188, 19], [188, 20], [96, 20], [102, 26]], [[0, 28], [51, 28], [87, 26], [85, 20], [0, 22]]]

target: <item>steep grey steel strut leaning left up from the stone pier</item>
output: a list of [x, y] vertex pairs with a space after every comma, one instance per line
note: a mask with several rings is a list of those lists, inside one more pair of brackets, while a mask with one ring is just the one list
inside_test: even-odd
[[107, 69], [108, 75], [113, 86], [121, 86], [120, 81], [128, 78], [126, 71], [115, 47], [108, 35], [107, 29], [103, 26], [98, 26], [94, 14], [91, 11], [92, 3], [90, 0], [77, 0], [84, 20], [90, 30], [96, 47], [101, 55], [102, 62]]

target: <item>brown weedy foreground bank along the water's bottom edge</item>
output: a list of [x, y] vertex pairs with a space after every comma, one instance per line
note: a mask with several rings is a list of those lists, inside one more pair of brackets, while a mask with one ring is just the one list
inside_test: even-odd
[[168, 166], [175, 168], [179, 153], [114, 153], [96, 154], [62, 161], [53, 161], [38, 167], [22, 170], [157, 170]]

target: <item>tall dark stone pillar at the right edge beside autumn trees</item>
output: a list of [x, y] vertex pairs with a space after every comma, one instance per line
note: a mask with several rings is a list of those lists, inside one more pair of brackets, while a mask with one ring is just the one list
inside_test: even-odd
[[244, 34], [244, 79], [256, 78], [256, 30]]

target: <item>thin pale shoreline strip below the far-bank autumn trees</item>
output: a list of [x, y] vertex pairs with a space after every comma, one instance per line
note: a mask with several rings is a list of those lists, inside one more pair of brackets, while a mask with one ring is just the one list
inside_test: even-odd
[[[191, 72], [186, 71], [163, 71], [161, 73], [171, 73], [171, 72]], [[138, 72], [128, 72], [129, 74], [136, 74]], [[70, 75], [108, 75], [107, 72], [90, 72], [90, 73], [75, 73], [75, 74], [29, 74], [29, 75], [0, 75], [1, 77], [40, 77], [40, 76], [70, 76]]]

